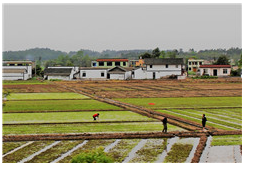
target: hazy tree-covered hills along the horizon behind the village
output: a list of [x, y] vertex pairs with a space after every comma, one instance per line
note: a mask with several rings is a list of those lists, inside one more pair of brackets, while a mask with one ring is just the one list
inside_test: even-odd
[[[104, 50], [102, 52], [92, 51], [89, 49], [82, 49], [84, 55], [88, 55], [92, 59], [96, 58], [128, 58], [128, 59], [138, 59], [139, 55], [145, 52], [152, 52], [152, 49], [136, 49], [136, 50]], [[172, 51], [166, 50], [165, 52]], [[33, 48], [24, 51], [5, 51], [2, 53], [3, 60], [53, 60], [60, 55], [69, 55], [70, 57], [75, 55], [78, 51], [71, 51], [69, 53], [62, 51], [55, 51], [49, 48]], [[194, 51], [190, 49], [187, 52], [181, 49], [177, 51], [177, 57], [179, 58], [189, 58], [197, 57], [205, 60], [217, 59], [220, 55], [227, 55], [229, 59], [234, 59], [237, 61], [240, 59], [242, 54], [242, 49], [240, 48], [230, 48], [230, 49], [205, 49], [200, 51]], [[41, 57], [41, 58], [40, 58]]]

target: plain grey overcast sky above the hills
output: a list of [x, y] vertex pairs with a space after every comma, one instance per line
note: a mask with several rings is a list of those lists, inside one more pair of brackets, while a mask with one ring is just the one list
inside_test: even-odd
[[2, 4], [3, 51], [242, 48], [242, 4]]

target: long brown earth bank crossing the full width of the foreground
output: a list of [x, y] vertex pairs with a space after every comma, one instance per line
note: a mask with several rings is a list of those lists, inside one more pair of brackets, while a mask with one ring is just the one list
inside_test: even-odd
[[25, 135], [3, 135], [3, 142], [15, 141], [59, 141], [59, 140], [97, 140], [97, 139], [147, 139], [147, 138], [172, 138], [172, 137], [201, 137], [204, 135], [241, 135], [242, 130], [220, 130], [220, 131], [173, 131], [162, 132], [136, 132], [136, 133], [79, 133], [79, 134], [25, 134]]

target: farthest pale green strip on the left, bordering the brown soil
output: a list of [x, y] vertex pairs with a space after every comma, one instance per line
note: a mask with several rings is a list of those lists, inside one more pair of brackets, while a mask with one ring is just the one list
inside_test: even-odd
[[12, 93], [8, 100], [42, 100], [42, 99], [87, 99], [89, 97], [77, 93]]

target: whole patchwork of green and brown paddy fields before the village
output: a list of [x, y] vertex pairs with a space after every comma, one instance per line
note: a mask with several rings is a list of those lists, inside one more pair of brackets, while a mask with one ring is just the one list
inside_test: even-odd
[[[163, 85], [159, 85], [160, 83]], [[59, 87], [61, 85], [67, 88]], [[87, 95], [71, 89], [86, 92]], [[242, 130], [241, 82], [238, 81], [214, 80], [202, 81], [202, 83], [196, 81], [195, 83], [175, 81], [159, 81], [158, 83], [150, 81], [144, 83], [32, 81], [29, 83], [26, 81], [4, 82], [3, 90], [10, 91], [10, 96], [6, 98], [7, 101], [3, 106], [3, 137], [24, 137], [25, 135], [39, 137], [45, 134], [159, 133], [162, 131], [163, 125], [158, 118], [90, 97], [97, 94], [103, 98], [150, 109], [197, 124], [201, 123], [202, 114], [206, 114], [209, 127], [229, 132]], [[197, 90], [209, 90], [211, 95], [191, 94]], [[229, 94], [223, 96], [216, 94], [223, 90]], [[146, 97], [146, 91], [151, 91], [148, 97]], [[157, 93], [156, 97], [152, 95], [154, 91]], [[176, 94], [173, 95], [177, 97], [164, 97], [163, 94], [163, 97], [158, 97], [158, 93], [163, 91], [175, 92]], [[178, 97], [179, 92], [182, 92], [184, 96], [184, 91], [190, 95]], [[115, 92], [119, 94], [114, 95]], [[140, 92], [144, 94], [142, 97], [137, 97], [136, 94]], [[121, 95], [124, 93], [128, 93], [125, 94], [125, 98]], [[238, 95], [231, 96], [236, 93]], [[121, 97], [118, 97], [120, 95]], [[100, 114], [97, 121], [94, 121], [92, 117], [95, 113]], [[169, 123], [168, 132], [189, 131]], [[209, 140], [210, 147], [221, 146], [223, 149], [225, 146], [234, 146], [234, 152], [238, 152], [238, 149], [239, 152], [242, 151], [242, 135], [218, 135], [212, 136]], [[4, 141], [2, 162], [70, 163], [72, 158], [80, 153], [103, 149], [114, 163], [191, 163], [201, 142], [202, 137], [198, 136]], [[200, 159], [209, 159], [207, 154], [202, 153]], [[234, 162], [239, 162], [239, 154], [232, 158]]]

